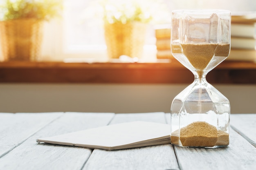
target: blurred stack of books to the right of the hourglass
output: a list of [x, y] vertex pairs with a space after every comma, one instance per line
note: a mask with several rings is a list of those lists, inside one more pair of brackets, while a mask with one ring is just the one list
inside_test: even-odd
[[256, 62], [256, 13], [231, 16], [230, 46], [227, 60]]

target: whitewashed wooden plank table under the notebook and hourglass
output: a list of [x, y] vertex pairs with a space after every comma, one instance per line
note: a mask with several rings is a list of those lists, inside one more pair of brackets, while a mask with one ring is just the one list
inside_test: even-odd
[[36, 139], [128, 121], [169, 123], [168, 113], [0, 113], [0, 170], [255, 170], [256, 114], [231, 115], [230, 145], [124, 150], [37, 144]]

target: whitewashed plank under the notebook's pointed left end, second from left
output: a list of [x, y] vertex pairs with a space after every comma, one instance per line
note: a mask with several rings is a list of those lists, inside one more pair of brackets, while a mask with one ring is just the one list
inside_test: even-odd
[[[1, 170], [81, 170], [92, 150], [36, 139], [107, 125], [113, 113], [65, 113], [0, 159]], [[51, 117], [51, 115], [49, 115]]]

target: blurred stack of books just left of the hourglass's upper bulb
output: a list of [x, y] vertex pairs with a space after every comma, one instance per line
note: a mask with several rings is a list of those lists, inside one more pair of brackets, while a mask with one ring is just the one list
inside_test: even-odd
[[171, 25], [158, 25], [155, 27], [157, 59], [171, 59]]

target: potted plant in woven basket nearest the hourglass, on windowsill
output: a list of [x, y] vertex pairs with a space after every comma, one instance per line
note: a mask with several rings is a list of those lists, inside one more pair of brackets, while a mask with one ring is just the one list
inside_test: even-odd
[[166, 9], [161, 11], [162, 9], [164, 6], [159, 0], [98, 2], [94, 12], [97, 11], [97, 15], [103, 19], [108, 56], [110, 58], [119, 58], [121, 55], [141, 57], [147, 26], [150, 22], [161, 19], [163, 11], [166, 16]]

